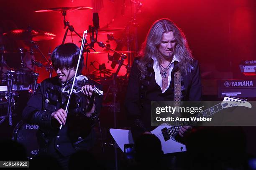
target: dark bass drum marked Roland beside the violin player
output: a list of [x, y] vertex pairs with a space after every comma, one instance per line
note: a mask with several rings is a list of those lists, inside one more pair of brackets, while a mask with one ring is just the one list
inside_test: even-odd
[[38, 154], [39, 145], [37, 143], [36, 132], [38, 125], [24, 123], [22, 120], [18, 122], [13, 131], [13, 140], [21, 143], [27, 150], [27, 157], [32, 159]]

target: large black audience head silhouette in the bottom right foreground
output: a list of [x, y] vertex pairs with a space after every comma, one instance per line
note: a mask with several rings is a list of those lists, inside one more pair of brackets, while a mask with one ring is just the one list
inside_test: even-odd
[[241, 168], [246, 162], [246, 137], [241, 127], [201, 127], [187, 138], [190, 168]]

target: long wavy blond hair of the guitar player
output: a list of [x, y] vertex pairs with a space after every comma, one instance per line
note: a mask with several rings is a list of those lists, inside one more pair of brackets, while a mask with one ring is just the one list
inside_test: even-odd
[[151, 62], [152, 57], [156, 57], [157, 61], [161, 62], [161, 54], [157, 47], [160, 45], [163, 39], [163, 34], [170, 31], [173, 32], [176, 40], [174, 55], [181, 63], [179, 65], [179, 69], [185, 74], [190, 71], [193, 56], [184, 33], [171, 20], [168, 18], [163, 18], [157, 20], [151, 26], [150, 30], [148, 31], [148, 35], [141, 46], [141, 50], [139, 52], [141, 60], [138, 62], [138, 69], [141, 71], [141, 75], [146, 72], [146, 65]]

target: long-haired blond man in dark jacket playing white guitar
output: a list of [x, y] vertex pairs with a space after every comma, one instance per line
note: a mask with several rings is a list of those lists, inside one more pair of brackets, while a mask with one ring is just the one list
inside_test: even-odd
[[[177, 70], [182, 72], [181, 100], [201, 100], [198, 61], [193, 58], [182, 30], [163, 18], [151, 26], [131, 68], [125, 107], [133, 139], [154, 129], [151, 127], [151, 101], [174, 99], [174, 72]], [[179, 135], [183, 137], [191, 128], [184, 126]]]

